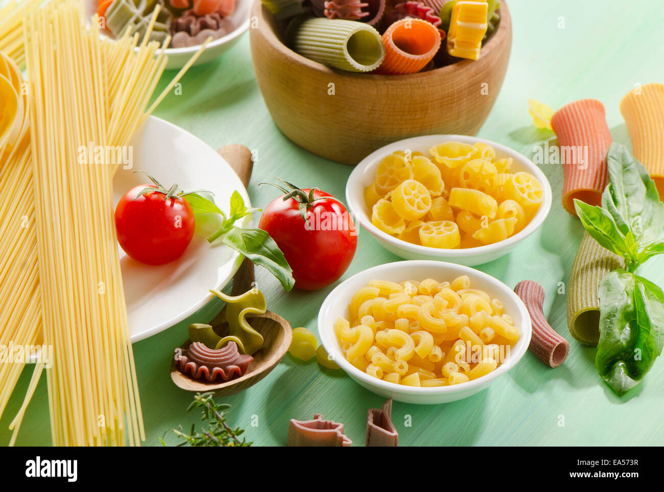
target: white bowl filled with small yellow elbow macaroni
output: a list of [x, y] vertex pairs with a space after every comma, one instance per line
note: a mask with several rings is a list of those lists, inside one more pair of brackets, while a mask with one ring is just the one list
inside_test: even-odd
[[321, 343], [359, 385], [437, 404], [485, 389], [528, 349], [519, 297], [485, 273], [441, 261], [398, 261], [353, 275], [325, 299]]

